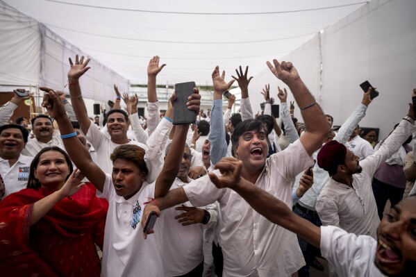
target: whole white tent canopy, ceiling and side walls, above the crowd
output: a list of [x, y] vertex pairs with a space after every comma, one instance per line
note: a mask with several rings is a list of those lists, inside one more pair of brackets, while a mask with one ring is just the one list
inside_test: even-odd
[[[7, 4], [13, 6], [10, 8]], [[82, 79], [91, 99], [113, 99], [113, 83], [147, 83], [147, 63], [167, 66], [158, 84], [210, 85], [215, 65], [226, 80], [239, 65], [254, 76], [253, 111], [266, 83], [282, 85], [266, 60], [290, 60], [321, 104], [342, 124], [369, 80], [378, 97], [362, 126], [383, 138], [406, 114], [415, 87], [416, 1], [0, 1], [0, 85], [66, 83], [67, 58], [82, 53], [92, 70]], [[28, 15], [35, 20], [24, 17]], [[67, 91], [67, 90], [66, 90]], [[293, 100], [292, 96], [288, 99]], [[299, 109], [295, 115], [300, 117]]]

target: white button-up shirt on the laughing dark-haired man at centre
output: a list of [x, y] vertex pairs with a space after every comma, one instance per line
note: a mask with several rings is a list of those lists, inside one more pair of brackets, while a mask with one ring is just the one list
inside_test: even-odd
[[[292, 208], [290, 182], [311, 165], [312, 158], [297, 140], [267, 158], [256, 185]], [[192, 181], [183, 190], [195, 207], [219, 203], [224, 222], [223, 276], [290, 276], [305, 265], [296, 235], [258, 214], [237, 192], [218, 190], [209, 176]]]

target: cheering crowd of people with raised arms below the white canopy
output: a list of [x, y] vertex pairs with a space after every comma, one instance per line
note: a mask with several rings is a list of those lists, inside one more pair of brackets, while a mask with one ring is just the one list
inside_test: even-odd
[[[254, 115], [249, 68], [227, 83], [217, 66], [208, 112], [195, 87], [186, 108], [197, 120], [173, 124], [175, 92], [160, 117], [165, 65], [155, 56], [146, 119], [138, 96], [116, 85], [111, 109], [91, 118], [79, 83], [89, 61], [69, 58], [69, 99], [40, 87], [44, 115], [9, 122], [30, 94], [0, 108], [1, 276], [309, 276], [323, 270], [316, 257], [330, 276], [413, 276], [412, 104], [378, 142], [378, 129], [358, 126], [383, 101], [370, 87], [335, 132], [294, 65], [273, 60], [270, 72], [288, 88], [276, 94], [280, 123], [269, 85]], [[223, 93], [235, 81], [242, 99], [231, 114], [235, 96], [224, 110]]]

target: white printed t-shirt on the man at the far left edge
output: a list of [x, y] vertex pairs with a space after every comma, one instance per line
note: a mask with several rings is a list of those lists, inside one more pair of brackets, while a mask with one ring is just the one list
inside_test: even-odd
[[32, 160], [33, 157], [20, 154], [17, 162], [10, 167], [8, 160], [0, 158], [0, 174], [5, 187], [4, 197], [27, 187]]

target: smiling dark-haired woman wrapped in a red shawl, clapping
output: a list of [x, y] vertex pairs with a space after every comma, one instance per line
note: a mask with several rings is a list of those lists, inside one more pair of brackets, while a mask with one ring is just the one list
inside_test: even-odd
[[58, 147], [35, 156], [28, 188], [0, 202], [2, 274], [99, 276], [106, 206], [82, 179]]

